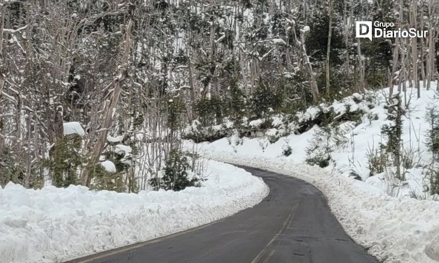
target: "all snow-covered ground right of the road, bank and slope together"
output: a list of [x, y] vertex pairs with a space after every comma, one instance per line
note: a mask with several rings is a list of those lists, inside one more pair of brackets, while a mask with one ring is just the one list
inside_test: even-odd
[[[392, 181], [388, 172], [369, 177], [367, 151], [377, 149], [384, 141], [380, 136], [381, 127], [389, 123], [384, 108], [388, 89], [374, 94], [374, 107], [368, 107], [365, 101], [358, 103], [357, 94], [326, 108], [310, 108], [298, 115], [299, 120], [309, 119], [318, 111], [329, 108], [339, 114], [346, 112], [347, 108], [350, 111], [361, 108], [365, 112], [358, 125], [350, 122], [340, 125], [345, 131], [342, 134], [345, 142], [331, 152], [333, 163], [325, 169], [305, 164], [305, 149], [319, 128], [317, 126], [299, 135], [281, 137], [272, 144], [268, 138], [276, 132], [270, 129], [262, 137], [239, 138], [234, 135], [212, 143], [196, 144], [195, 147], [209, 158], [267, 169], [312, 183], [328, 198], [333, 213], [346, 232], [385, 263], [439, 262], [439, 202], [432, 201], [434, 196], [426, 191], [430, 180], [425, 172], [432, 154], [424, 144], [428, 129], [426, 108], [439, 103], [435, 89], [436, 84], [432, 90], [423, 89], [420, 99], [416, 98], [415, 89], [407, 90], [410, 104], [403, 119], [402, 140], [404, 149], [413, 151], [417, 163], [405, 171], [406, 180], [403, 182]], [[273, 118], [275, 121], [281, 123]], [[291, 147], [292, 154], [286, 157], [283, 150], [287, 146]], [[192, 148], [194, 144], [187, 141], [185, 147]], [[351, 172], [360, 175], [362, 181], [350, 178]], [[426, 200], [410, 198], [413, 195], [423, 196]]]

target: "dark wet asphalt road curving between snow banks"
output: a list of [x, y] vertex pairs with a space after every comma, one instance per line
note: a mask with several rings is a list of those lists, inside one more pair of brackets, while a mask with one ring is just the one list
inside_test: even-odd
[[215, 223], [73, 262], [378, 263], [344, 232], [322, 192], [293, 177], [242, 167], [270, 187], [258, 205]]

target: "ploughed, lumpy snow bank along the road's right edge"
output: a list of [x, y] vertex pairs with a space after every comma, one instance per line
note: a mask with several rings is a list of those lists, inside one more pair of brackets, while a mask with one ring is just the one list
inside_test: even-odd
[[286, 157], [205, 149], [201, 146], [199, 150], [207, 157], [291, 175], [318, 187], [346, 232], [384, 263], [439, 261], [439, 202], [391, 197], [362, 181], [329, 169], [298, 165]]

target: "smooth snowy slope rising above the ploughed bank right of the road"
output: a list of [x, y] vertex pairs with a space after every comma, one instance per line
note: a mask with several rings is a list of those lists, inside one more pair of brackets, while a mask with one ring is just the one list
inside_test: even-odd
[[[343, 114], [347, 107], [350, 111], [361, 109], [363, 114], [361, 123], [355, 126], [353, 123], [344, 122], [339, 127], [343, 130], [345, 143], [331, 153], [331, 157], [336, 172], [345, 176], [349, 176], [351, 172], [358, 174], [363, 181], [366, 181], [371, 188], [376, 188], [377, 191], [386, 192], [392, 196], [424, 196], [425, 198], [433, 198], [429, 196], [426, 189], [430, 185], [430, 180], [426, 176], [426, 167], [432, 162], [432, 153], [428, 151], [425, 145], [426, 130], [429, 129], [428, 123], [425, 120], [426, 108], [431, 105], [439, 105], [439, 96], [435, 92], [436, 83], [432, 83], [431, 90], [422, 90], [422, 97], [416, 98], [416, 89], [407, 88], [407, 102], [409, 102], [409, 110], [405, 117], [403, 117], [403, 135], [404, 150], [411, 150], [413, 159], [415, 160], [415, 167], [405, 171], [405, 182], [395, 182], [389, 179], [386, 173], [378, 174], [369, 178], [369, 168], [367, 163], [367, 152], [369, 150], [378, 149], [380, 142], [385, 142], [385, 138], [381, 136], [381, 127], [389, 123], [387, 120], [387, 110], [384, 108], [386, 94], [389, 89], [379, 90], [374, 92], [374, 107], [369, 109], [368, 103], [365, 101], [356, 103], [355, 95], [345, 98], [342, 101], [336, 101], [331, 105], [321, 107], [309, 108], [304, 113], [299, 113], [299, 120], [306, 120], [313, 118], [319, 111], [325, 111], [332, 108], [335, 113]], [[357, 94], [359, 95], [359, 94]], [[347, 106], [349, 105], [349, 106]], [[279, 118], [273, 118], [278, 121]], [[257, 122], [254, 120], [252, 122]], [[294, 130], [294, 123], [289, 124]], [[229, 138], [222, 138], [212, 143], [200, 143], [198, 147], [207, 151], [244, 154], [251, 156], [263, 156], [268, 158], [278, 158], [283, 156], [283, 149], [286, 146], [292, 148], [292, 154], [286, 157], [288, 162], [302, 164], [305, 162], [306, 148], [309, 146], [310, 140], [314, 137], [318, 126], [312, 127], [309, 131], [302, 134], [290, 134], [281, 137], [275, 143], [270, 143], [269, 133], [273, 133], [271, 129], [268, 130], [263, 137], [258, 138], [238, 138], [236, 135]], [[391, 185], [392, 184], [392, 185]]]

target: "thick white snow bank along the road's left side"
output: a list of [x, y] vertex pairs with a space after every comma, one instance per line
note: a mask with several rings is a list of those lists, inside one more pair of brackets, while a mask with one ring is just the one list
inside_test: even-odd
[[243, 169], [204, 167], [208, 180], [179, 192], [0, 187], [0, 261], [59, 262], [146, 241], [230, 216], [268, 194]]

